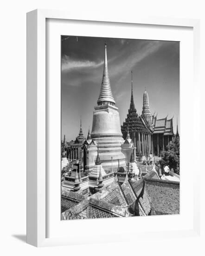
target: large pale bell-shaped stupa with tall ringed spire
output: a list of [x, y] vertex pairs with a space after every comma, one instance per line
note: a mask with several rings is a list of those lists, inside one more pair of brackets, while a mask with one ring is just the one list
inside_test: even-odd
[[99, 156], [105, 170], [113, 169], [113, 171], [116, 171], [118, 160], [120, 166], [126, 168], [125, 155], [121, 148], [123, 138], [120, 116], [118, 108], [115, 106], [109, 81], [106, 44], [102, 85], [97, 106], [93, 112], [91, 138], [98, 141]]

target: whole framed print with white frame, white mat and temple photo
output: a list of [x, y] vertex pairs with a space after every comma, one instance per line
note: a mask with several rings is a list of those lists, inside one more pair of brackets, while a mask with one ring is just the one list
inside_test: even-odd
[[199, 143], [198, 30], [27, 14], [27, 243], [199, 232], [186, 150]]

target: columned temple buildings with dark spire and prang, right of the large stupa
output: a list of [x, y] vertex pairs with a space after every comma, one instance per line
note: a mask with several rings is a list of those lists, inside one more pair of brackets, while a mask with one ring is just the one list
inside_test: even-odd
[[173, 117], [157, 119], [157, 115], [152, 115], [146, 90], [143, 94], [142, 114], [137, 113], [133, 97], [133, 79], [131, 80], [130, 107], [121, 127], [124, 139], [128, 130], [135, 145], [134, 157], [139, 161], [142, 156], [160, 156], [160, 152], [165, 150], [173, 138]]

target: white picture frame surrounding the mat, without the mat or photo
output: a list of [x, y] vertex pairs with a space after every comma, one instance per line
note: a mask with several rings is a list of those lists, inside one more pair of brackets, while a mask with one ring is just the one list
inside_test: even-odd
[[[147, 26], [175, 26], [175, 27], [191, 27], [193, 29], [193, 75], [194, 75], [194, 98], [193, 108], [197, 108], [199, 104], [199, 95], [196, 90], [199, 88], [199, 20], [189, 19], [169, 19], [162, 17], [130, 17], [124, 20], [123, 17], [95, 17], [95, 14], [87, 17], [86, 13], [80, 15], [55, 10], [34, 10], [27, 13], [27, 243], [37, 247], [54, 246], [54, 245], [71, 245], [78, 243], [97, 243], [97, 242], [114, 242], [121, 241], [124, 238], [124, 230], [117, 232], [117, 236], [113, 236], [115, 232], [110, 231], [110, 236], [96, 237], [92, 241], [83, 240], [83, 233], [75, 236], [61, 236], [56, 233], [55, 237], [48, 237], [46, 231], [47, 222], [47, 202], [46, 202], [46, 140], [47, 140], [47, 116], [46, 116], [46, 19], [58, 20], [79, 20], [79, 21], [95, 21], [107, 22], [113, 24], [144, 24]], [[199, 115], [194, 116], [195, 136], [193, 143], [199, 146]], [[196, 155], [196, 161], [199, 158]], [[199, 159], [198, 159], [199, 160]], [[181, 230], [161, 230], [160, 234], [166, 236], [196, 236], [199, 234], [199, 186], [196, 176], [193, 180], [193, 227], [192, 229]], [[157, 216], [158, 217], [158, 216]], [[155, 217], [156, 218], [156, 217]], [[159, 216], [160, 218], [160, 216]], [[93, 225], [93, 221], [85, 220], [83, 222]], [[111, 220], [109, 220], [110, 223]], [[123, 219], [123, 224], [129, 220]], [[82, 221], [75, 221], [75, 226], [80, 225]], [[71, 223], [71, 222], [70, 222]], [[150, 230], [151, 231], [151, 230]], [[121, 232], [121, 233], [119, 233]], [[160, 233], [161, 232], [161, 233]], [[153, 232], [146, 231], [137, 233], [132, 230], [132, 236], [148, 237], [153, 236]]]

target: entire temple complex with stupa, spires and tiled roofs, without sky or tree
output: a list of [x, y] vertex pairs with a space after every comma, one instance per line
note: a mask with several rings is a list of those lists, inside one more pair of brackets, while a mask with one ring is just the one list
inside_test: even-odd
[[68, 142], [64, 135], [61, 141], [61, 219], [179, 214], [179, 175], [157, 162], [173, 140], [173, 118], [151, 114], [146, 89], [137, 112], [131, 72], [128, 114], [120, 126], [106, 44], [96, 103], [91, 133], [83, 135], [80, 119], [76, 139]]

